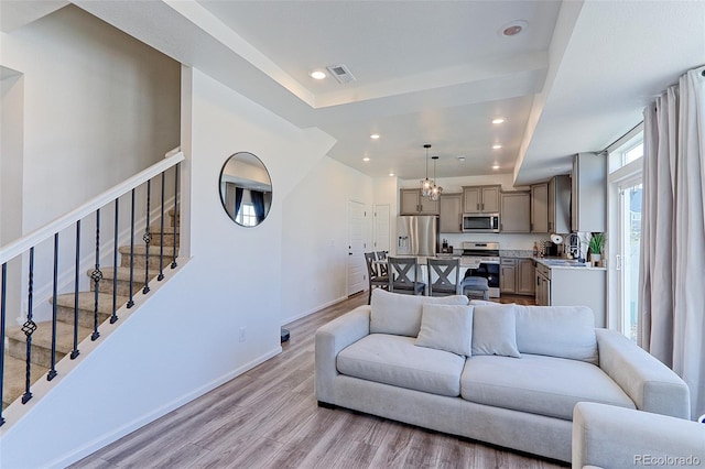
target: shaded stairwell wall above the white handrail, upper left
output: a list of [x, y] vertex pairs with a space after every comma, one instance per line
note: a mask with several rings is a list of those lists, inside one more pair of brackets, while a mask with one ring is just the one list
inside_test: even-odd
[[23, 233], [178, 145], [171, 58], [73, 6], [1, 40], [0, 65], [24, 79]]

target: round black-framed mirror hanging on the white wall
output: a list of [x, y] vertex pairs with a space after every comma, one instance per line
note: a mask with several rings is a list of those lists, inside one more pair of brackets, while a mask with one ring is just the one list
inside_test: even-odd
[[242, 227], [261, 223], [272, 206], [272, 179], [262, 161], [249, 152], [230, 156], [220, 170], [220, 201]]

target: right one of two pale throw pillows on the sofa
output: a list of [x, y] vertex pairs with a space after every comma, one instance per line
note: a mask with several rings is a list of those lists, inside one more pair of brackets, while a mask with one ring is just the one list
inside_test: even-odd
[[473, 312], [473, 355], [521, 358], [514, 305], [477, 305]]

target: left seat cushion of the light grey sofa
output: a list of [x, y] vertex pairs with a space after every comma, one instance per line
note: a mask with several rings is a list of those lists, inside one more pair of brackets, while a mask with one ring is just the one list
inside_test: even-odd
[[378, 383], [447, 396], [460, 395], [465, 357], [416, 347], [413, 337], [370, 334], [343, 349], [340, 373]]

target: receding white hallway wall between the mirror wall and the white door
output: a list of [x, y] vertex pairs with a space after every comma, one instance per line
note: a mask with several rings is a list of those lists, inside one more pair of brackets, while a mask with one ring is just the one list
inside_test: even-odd
[[362, 173], [325, 156], [285, 198], [282, 324], [347, 296], [348, 200], [365, 204], [371, 246], [372, 179]]

